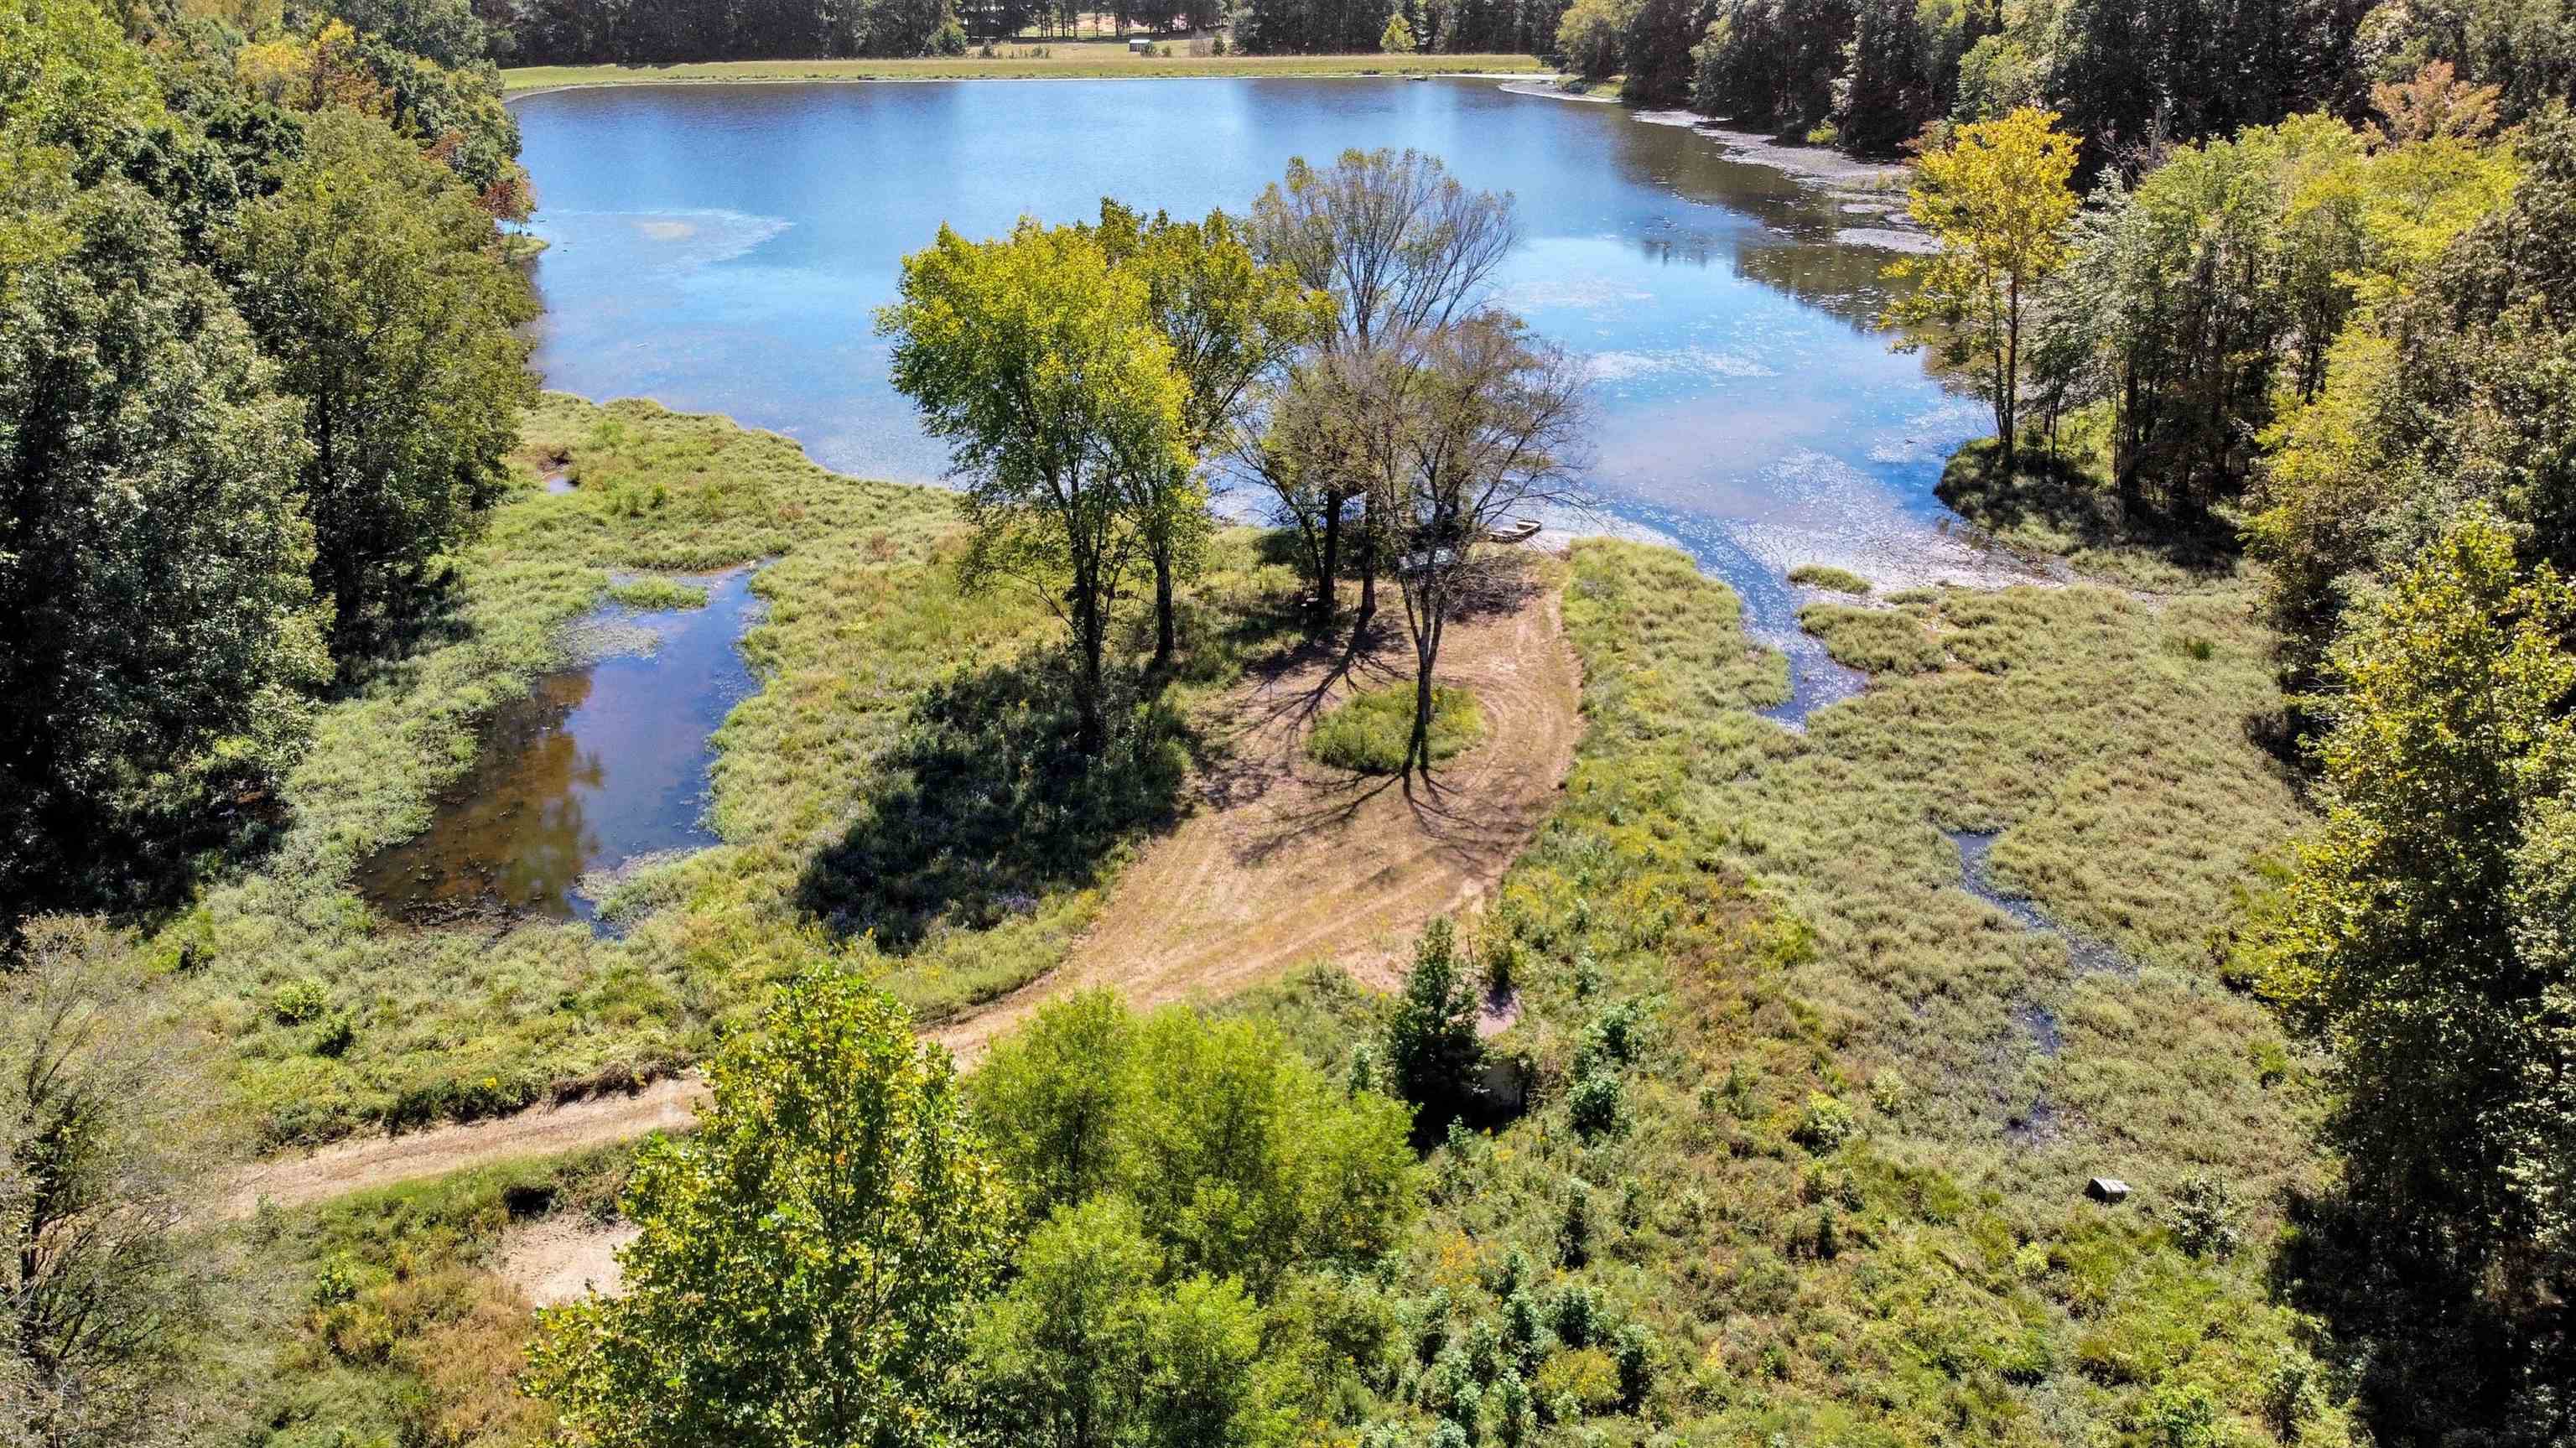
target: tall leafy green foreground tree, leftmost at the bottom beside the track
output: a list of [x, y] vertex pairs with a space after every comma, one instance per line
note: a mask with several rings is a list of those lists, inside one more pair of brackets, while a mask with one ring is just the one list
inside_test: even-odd
[[708, 1077], [636, 1159], [626, 1291], [538, 1319], [531, 1391], [603, 1448], [956, 1440], [1007, 1193], [948, 1054], [811, 966]]

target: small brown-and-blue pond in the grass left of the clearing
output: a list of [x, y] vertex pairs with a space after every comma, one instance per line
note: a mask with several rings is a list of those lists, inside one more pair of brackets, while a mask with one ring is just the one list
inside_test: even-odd
[[585, 618], [605, 654], [497, 709], [430, 827], [358, 868], [361, 894], [420, 922], [595, 920], [585, 876], [714, 845], [711, 734], [757, 688], [737, 644], [760, 603], [752, 569], [696, 582], [703, 608], [608, 605]]

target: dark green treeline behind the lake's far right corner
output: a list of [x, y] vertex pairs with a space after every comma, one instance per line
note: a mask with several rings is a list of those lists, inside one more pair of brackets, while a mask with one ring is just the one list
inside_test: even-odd
[[2519, 0], [1577, 0], [1553, 49], [1687, 103], [1891, 155], [1935, 121], [2063, 113], [2087, 160], [2300, 111], [2360, 119], [2370, 85], [2445, 59], [2506, 121], [2576, 90], [2576, 13]]

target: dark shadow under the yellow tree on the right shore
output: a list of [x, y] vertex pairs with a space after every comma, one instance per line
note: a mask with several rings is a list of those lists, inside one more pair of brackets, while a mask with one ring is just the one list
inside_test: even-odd
[[2146, 502], [2123, 508], [2115, 487], [2027, 443], [2009, 477], [1994, 438], [1968, 443], [1932, 492], [1981, 533], [2025, 554], [2146, 554], [2192, 582], [2221, 580], [2241, 559], [2236, 526], [2226, 518]]

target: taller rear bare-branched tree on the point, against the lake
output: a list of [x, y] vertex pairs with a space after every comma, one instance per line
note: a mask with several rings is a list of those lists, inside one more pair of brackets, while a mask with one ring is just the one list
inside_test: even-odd
[[[1319, 170], [1303, 157], [1252, 204], [1252, 247], [1303, 286], [1332, 294], [1337, 312], [1327, 353], [1368, 353], [1386, 338], [1445, 327], [1484, 301], [1494, 268], [1520, 237], [1512, 193], [1468, 191], [1414, 149], [1347, 149]], [[1283, 477], [1262, 472], [1265, 479]], [[1319, 538], [1316, 608], [1329, 621], [1342, 567], [1342, 515], [1360, 502], [1360, 626], [1378, 608], [1386, 528], [1370, 513], [1365, 479], [1329, 466], [1296, 466], [1303, 497], [1283, 508], [1314, 515]]]

